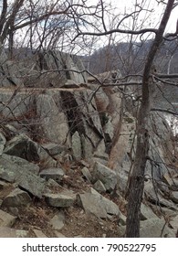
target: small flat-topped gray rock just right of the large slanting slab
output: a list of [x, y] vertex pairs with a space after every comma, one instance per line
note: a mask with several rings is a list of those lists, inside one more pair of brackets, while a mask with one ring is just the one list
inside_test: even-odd
[[45, 177], [47, 180], [51, 178], [57, 181], [58, 183], [60, 183], [64, 175], [65, 175], [65, 172], [63, 169], [55, 168], [55, 167], [44, 169], [39, 174], [39, 176]]

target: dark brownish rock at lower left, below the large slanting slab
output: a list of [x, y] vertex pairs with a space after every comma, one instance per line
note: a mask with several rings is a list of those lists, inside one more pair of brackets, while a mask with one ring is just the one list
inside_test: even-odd
[[31, 197], [29, 195], [19, 189], [15, 188], [8, 196], [6, 196], [3, 200], [3, 206], [6, 208], [13, 207], [26, 207], [31, 202]]

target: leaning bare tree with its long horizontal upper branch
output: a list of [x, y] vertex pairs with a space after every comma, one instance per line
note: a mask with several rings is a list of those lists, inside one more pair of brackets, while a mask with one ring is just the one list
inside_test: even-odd
[[[139, 5], [137, 3], [135, 5]], [[142, 73], [142, 87], [141, 87], [141, 106], [138, 115], [138, 123], [137, 123], [137, 145], [136, 145], [136, 154], [134, 158], [134, 163], [131, 171], [130, 177], [130, 186], [129, 186], [129, 197], [128, 197], [128, 212], [127, 212], [127, 228], [126, 228], [126, 237], [140, 237], [140, 211], [141, 211], [141, 199], [144, 187], [144, 173], [145, 166], [148, 159], [148, 151], [149, 151], [149, 114], [152, 108], [152, 92], [153, 92], [153, 75], [156, 70], [154, 70], [152, 64], [155, 59], [155, 56], [158, 52], [158, 49], [162, 45], [162, 40], [164, 39], [163, 33], [169, 17], [172, 13], [173, 7], [177, 4], [174, 4], [173, 0], [169, 0], [167, 4], [165, 4], [165, 9], [162, 15], [162, 20], [158, 28], [141, 28], [134, 30], [133, 27], [131, 29], [122, 29], [120, 28], [120, 24], [123, 20], [128, 18], [124, 16], [122, 20], [120, 20], [119, 26], [108, 30], [103, 24], [103, 31], [97, 32], [86, 32], [79, 29], [79, 36], [104, 36], [110, 35], [113, 33], [121, 33], [131, 35], [141, 35], [143, 36], [145, 33], [153, 33], [155, 36], [152, 40], [151, 48], [149, 49], [147, 58], [144, 63], [144, 69]], [[142, 8], [140, 7], [140, 11]], [[136, 14], [135, 11], [131, 14]], [[102, 23], [104, 22], [104, 16], [101, 14]], [[165, 36], [166, 38], [177, 37], [177, 28], [175, 33], [168, 34]], [[131, 63], [131, 59], [129, 60]]]

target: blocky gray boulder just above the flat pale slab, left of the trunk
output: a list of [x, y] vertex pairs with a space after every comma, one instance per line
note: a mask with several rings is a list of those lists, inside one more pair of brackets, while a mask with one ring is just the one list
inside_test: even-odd
[[106, 190], [112, 191], [116, 187], [116, 173], [105, 165], [99, 164], [99, 162], [95, 163], [92, 176], [94, 181], [100, 180]]

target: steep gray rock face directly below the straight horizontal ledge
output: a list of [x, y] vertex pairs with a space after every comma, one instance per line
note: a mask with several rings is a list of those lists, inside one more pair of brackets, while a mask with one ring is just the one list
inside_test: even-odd
[[3, 90], [3, 123], [11, 123], [18, 133], [37, 137], [41, 142], [73, 148], [77, 159], [91, 157], [98, 147], [102, 155], [105, 143], [99, 143], [104, 142], [105, 135], [95, 99], [89, 101], [90, 95], [92, 91], [85, 88]]

